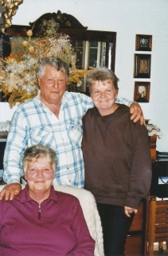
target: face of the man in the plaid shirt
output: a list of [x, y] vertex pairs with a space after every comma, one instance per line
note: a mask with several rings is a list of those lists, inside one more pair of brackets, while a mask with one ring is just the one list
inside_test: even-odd
[[43, 75], [37, 77], [38, 85], [41, 88], [41, 102], [58, 104], [61, 102], [66, 90], [66, 74], [58, 71], [55, 67], [46, 65]]

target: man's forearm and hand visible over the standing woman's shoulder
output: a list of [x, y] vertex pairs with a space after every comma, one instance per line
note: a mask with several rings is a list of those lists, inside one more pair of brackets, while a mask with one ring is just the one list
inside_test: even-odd
[[116, 103], [121, 103], [126, 106], [130, 106], [131, 120], [137, 122], [140, 120], [140, 124], [146, 125], [145, 119], [143, 118], [143, 111], [137, 102], [131, 102], [127, 98], [116, 98]]

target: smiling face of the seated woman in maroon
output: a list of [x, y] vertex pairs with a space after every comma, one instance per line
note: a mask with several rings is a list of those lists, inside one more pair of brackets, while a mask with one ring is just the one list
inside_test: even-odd
[[32, 161], [28, 162], [25, 179], [29, 185], [29, 190], [48, 191], [51, 188], [53, 178], [55, 178], [53, 167], [47, 158], [32, 158]]

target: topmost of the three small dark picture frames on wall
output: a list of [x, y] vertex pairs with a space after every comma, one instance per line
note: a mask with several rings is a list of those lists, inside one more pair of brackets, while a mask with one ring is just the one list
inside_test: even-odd
[[151, 51], [152, 50], [152, 35], [136, 34], [135, 50]]

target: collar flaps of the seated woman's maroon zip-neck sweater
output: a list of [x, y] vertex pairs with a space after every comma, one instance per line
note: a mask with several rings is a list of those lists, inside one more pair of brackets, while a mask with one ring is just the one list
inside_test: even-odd
[[[45, 200], [53, 200], [55, 202], [58, 202], [57, 193], [54, 190], [53, 185], [51, 186], [51, 191], [50, 191], [50, 194], [49, 194], [49, 198], [47, 198]], [[30, 198], [30, 196], [29, 196], [29, 186], [28, 186], [28, 184], [26, 184], [25, 188], [23, 190], [21, 190], [20, 202], [29, 202], [29, 201], [34, 201], [34, 200], [33, 200], [33, 198]]]

